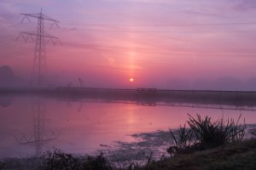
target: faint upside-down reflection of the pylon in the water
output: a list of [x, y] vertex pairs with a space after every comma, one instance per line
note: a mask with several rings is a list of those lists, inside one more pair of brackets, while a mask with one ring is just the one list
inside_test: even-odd
[[54, 132], [44, 131], [45, 125], [45, 107], [40, 101], [32, 105], [33, 134], [25, 135], [18, 140], [19, 144], [32, 145], [35, 147], [35, 156], [41, 156], [43, 145], [56, 139]]

